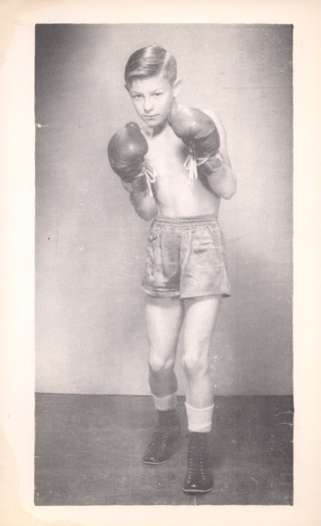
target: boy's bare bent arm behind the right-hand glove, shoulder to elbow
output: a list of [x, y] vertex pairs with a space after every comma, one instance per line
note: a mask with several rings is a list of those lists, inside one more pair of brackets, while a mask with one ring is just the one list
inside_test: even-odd
[[212, 174], [207, 176], [212, 191], [219, 197], [231, 199], [236, 192], [236, 177], [232, 169], [231, 160], [227, 150], [226, 132], [221, 119], [216, 112], [204, 110], [205, 113], [214, 121], [220, 137], [220, 148], [217, 157], [222, 161], [222, 165], [216, 168]]

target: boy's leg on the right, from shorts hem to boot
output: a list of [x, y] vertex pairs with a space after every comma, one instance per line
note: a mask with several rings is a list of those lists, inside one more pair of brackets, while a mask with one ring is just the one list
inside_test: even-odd
[[213, 487], [208, 435], [214, 404], [208, 355], [219, 305], [218, 296], [185, 300], [183, 367], [187, 379], [189, 444], [184, 491], [188, 493], [203, 493]]

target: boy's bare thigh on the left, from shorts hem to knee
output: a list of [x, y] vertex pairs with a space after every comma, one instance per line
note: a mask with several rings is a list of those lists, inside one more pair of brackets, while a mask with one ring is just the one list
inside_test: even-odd
[[181, 300], [147, 297], [145, 319], [151, 352], [163, 355], [176, 352], [183, 315]]

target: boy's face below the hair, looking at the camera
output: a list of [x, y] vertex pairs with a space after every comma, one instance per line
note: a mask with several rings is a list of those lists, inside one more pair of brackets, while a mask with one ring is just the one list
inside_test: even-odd
[[149, 128], [157, 128], [167, 121], [177, 85], [170, 84], [162, 74], [131, 82], [128, 91], [135, 110]]

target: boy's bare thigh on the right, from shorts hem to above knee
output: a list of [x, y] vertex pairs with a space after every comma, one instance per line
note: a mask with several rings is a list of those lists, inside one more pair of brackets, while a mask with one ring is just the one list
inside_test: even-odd
[[184, 345], [210, 343], [219, 313], [221, 296], [209, 295], [184, 300]]

